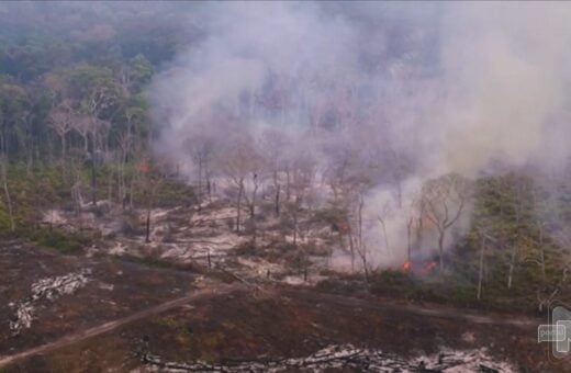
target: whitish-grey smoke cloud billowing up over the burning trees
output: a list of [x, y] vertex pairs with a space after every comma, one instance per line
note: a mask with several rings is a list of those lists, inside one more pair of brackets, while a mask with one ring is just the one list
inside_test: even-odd
[[[153, 84], [157, 149], [190, 166], [184, 140], [206, 127], [221, 140], [271, 129], [303, 140], [321, 170], [339, 162], [343, 151], [332, 149], [357, 154], [355, 165], [382, 163], [371, 166], [382, 172], [367, 193], [376, 222], [367, 236], [377, 253], [388, 236], [394, 261], [425, 180], [472, 177], [495, 161], [568, 161], [567, 3], [217, 2], [194, 11], [189, 26], [203, 38]], [[406, 160], [399, 199], [388, 155]]]

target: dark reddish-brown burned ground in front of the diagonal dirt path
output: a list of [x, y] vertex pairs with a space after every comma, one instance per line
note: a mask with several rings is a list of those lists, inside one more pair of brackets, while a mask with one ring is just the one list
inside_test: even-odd
[[479, 350], [496, 361], [508, 362], [517, 371], [566, 370], [562, 363], [547, 361], [545, 347], [536, 343], [534, 325], [510, 326], [502, 324], [501, 317], [494, 320], [497, 324], [421, 316], [405, 308], [387, 307], [384, 301], [296, 289], [272, 287], [256, 294], [240, 290], [202, 298], [18, 362], [8, 371], [153, 370], [136, 355], [143, 339], [148, 340], [153, 355], [175, 362], [295, 358], [327, 346], [350, 343], [404, 359], [429, 359], [439, 351]]

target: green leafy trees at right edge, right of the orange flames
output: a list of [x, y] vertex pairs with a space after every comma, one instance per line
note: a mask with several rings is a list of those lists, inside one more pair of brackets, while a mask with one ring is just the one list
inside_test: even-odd
[[[553, 238], [571, 224], [564, 214], [571, 199], [566, 201], [562, 191], [564, 187], [546, 190], [523, 172], [478, 179], [471, 228], [448, 260], [454, 276], [469, 286], [447, 297], [460, 305], [526, 310], [537, 309], [539, 298], [553, 292], [571, 299], [569, 283], [562, 282], [570, 253]], [[474, 303], [482, 233], [493, 241], [486, 239], [482, 299]]]

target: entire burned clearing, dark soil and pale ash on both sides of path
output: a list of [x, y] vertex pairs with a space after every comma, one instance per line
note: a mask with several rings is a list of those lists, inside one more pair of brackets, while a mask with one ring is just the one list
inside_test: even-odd
[[[311, 358], [331, 348], [369, 349], [367, 353], [382, 357], [387, 366], [403, 371], [416, 370], [423, 359], [426, 366], [437, 366], [446, 357], [460, 372], [468, 365], [459, 364], [467, 361], [475, 366], [499, 364], [494, 366], [505, 371], [568, 368], [549, 362], [547, 347], [537, 344], [539, 318], [423, 305], [395, 294], [373, 296], [366, 289], [338, 294], [315, 289], [320, 280], [336, 276], [328, 270], [327, 252], [318, 250], [334, 241], [325, 225], [306, 229], [300, 242], [306, 245], [305, 252], [310, 241], [322, 241], [313, 245], [311, 256], [301, 258], [309, 260], [303, 263], [288, 237], [277, 240], [280, 234], [287, 236], [279, 224], [261, 221], [267, 229], [253, 247], [246, 233], [232, 230], [231, 211], [220, 203], [199, 212], [153, 211], [148, 244], [141, 229], [125, 233], [116, 224], [111, 227], [117, 216], [110, 213], [92, 221], [91, 228], [105, 235], [75, 256], [22, 241], [0, 248], [5, 273], [0, 280], [0, 312], [7, 330], [1, 335], [0, 361], [9, 362], [3, 368], [8, 372], [168, 371], [153, 362], [235, 366], [238, 361]], [[136, 214], [135, 219], [141, 221]], [[75, 223], [64, 222], [71, 227]], [[88, 280], [81, 287], [38, 299], [31, 327], [9, 332], [14, 317], [10, 303], [30, 297], [31, 286], [42, 279], [86, 269]], [[216, 293], [228, 283], [229, 289]], [[192, 297], [204, 290], [212, 294]], [[165, 304], [169, 306], [161, 309]], [[142, 357], [148, 358], [147, 364]], [[360, 370], [350, 364], [326, 366]]]

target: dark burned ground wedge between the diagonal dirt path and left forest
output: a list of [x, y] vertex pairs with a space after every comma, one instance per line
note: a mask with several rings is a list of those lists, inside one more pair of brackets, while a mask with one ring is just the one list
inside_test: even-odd
[[[132, 263], [114, 258], [60, 256], [29, 244], [9, 242], [1, 252], [0, 351], [19, 352], [49, 342], [70, 331], [112, 320], [186, 293], [193, 282], [188, 272]], [[35, 303], [31, 328], [14, 335], [11, 303], [30, 296], [31, 285], [41, 279], [90, 269], [88, 282], [72, 295]]]

